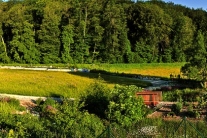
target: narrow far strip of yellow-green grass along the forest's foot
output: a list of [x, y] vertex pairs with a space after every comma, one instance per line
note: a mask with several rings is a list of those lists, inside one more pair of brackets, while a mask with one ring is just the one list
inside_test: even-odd
[[[88, 69], [99, 69], [108, 72], [118, 72], [118, 73], [129, 73], [129, 74], [142, 74], [149, 76], [159, 76], [159, 77], [170, 77], [170, 74], [178, 75], [180, 74], [180, 68], [185, 63], [142, 63], [142, 64], [11, 64], [11, 66], [35, 66], [35, 67], [52, 67], [52, 68], [88, 68]], [[0, 64], [4, 65], [4, 64]]]

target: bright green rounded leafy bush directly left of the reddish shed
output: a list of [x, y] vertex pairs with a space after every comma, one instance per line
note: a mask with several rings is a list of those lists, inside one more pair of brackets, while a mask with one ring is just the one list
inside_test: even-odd
[[130, 126], [143, 119], [144, 102], [135, 93], [140, 91], [136, 86], [121, 87], [116, 85], [110, 93], [108, 120], [121, 126]]

